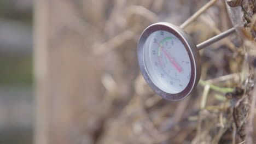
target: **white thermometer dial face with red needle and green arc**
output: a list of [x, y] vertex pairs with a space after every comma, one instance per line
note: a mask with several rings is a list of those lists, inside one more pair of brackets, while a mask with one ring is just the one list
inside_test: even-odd
[[144, 62], [150, 79], [166, 93], [182, 92], [191, 77], [187, 50], [172, 33], [156, 31], [144, 44]]

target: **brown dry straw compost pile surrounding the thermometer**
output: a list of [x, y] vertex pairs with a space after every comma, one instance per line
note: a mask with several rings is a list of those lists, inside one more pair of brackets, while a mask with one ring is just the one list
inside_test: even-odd
[[[97, 39], [92, 53], [104, 65], [101, 118], [91, 128], [95, 143], [252, 143], [255, 1], [243, 7], [241, 31], [248, 38], [234, 34], [200, 51], [201, 80], [189, 97], [161, 99], [139, 72], [136, 51], [143, 29], [160, 21], [179, 26], [207, 2], [108, 0], [94, 7], [86, 2], [87, 21], [97, 29], [91, 33]], [[185, 31], [198, 44], [230, 27], [225, 1], [216, 1]]]

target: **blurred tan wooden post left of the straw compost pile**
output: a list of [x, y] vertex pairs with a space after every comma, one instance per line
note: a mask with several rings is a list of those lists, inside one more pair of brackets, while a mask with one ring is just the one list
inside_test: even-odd
[[36, 144], [92, 143], [101, 117], [101, 64], [74, 3], [35, 2]]

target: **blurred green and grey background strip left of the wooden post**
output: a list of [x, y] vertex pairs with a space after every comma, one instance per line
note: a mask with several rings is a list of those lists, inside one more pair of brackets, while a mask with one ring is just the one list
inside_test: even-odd
[[0, 143], [32, 143], [32, 1], [0, 1]]

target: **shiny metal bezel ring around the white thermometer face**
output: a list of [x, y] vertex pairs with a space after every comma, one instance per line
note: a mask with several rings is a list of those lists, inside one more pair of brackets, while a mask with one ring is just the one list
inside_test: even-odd
[[[191, 64], [191, 77], [187, 87], [185, 87], [185, 89], [183, 89], [183, 91], [179, 93], [171, 94], [162, 91], [158, 86], [155, 85], [155, 83], [152, 81], [148, 74], [144, 62], [144, 44], [146, 43], [146, 40], [149, 37], [149, 35], [154, 33], [155, 31], [167, 31], [174, 34], [179, 40], [181, 40], [185, 49], [188, 51]], [[137, 57], [139, 68], [141, 69], [141, 73], [146, 82], [148, 83], [149, 87], [152, 88], [155, 93], [157, 93], [162, 98], [167, 100], [181, 100], [187, 97], [196, 87], [201, 76], [200, 55], [199, 52], [197, 51], [196, 45], [193, 43], [191, 37], [183, 31], [183, 29], [175, 25], [172, 25], [171, 23], [159, 22], [154, 23], [153, 25], [147, 27], [141, 34], [141, 37], [139, 38], [137, 47]]]

